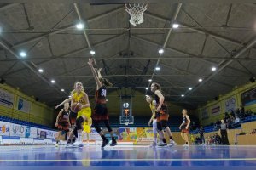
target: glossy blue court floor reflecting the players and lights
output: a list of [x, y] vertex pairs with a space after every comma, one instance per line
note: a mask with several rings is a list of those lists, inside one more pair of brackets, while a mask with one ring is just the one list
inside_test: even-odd
[[226, 169], [256, 166], [256, 146], [118, 145], [106, 146], [103, 150], [95, 145], [83, 148], [1, 146], [0, 150], [0, 166], [224, 166]]

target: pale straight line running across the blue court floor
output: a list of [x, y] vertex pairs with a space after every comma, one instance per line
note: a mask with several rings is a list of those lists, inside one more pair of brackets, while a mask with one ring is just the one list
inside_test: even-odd
[[223, 159], [82, 159], [82, 160], [0, 160], [0, 161], [256, 161], [256, 158], [223, 158]]

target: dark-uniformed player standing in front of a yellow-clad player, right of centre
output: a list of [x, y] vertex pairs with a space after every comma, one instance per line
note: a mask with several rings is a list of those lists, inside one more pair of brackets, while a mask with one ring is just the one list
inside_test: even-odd
[[[159, 133], [163, 133], [164, 131], [166, 131], [167, 135], [170, 138], [170, 144], [171, 145], [176, 145], [176, 143], [174, 142], [173, 138], [172, 138], [172, 133], [170, 128], [168, 127], [168, 118], [169, 118], [169, 114], [168, 114], [168, 108], [167, 105], [165, 103], [165, 97], [163, 96], [163, 94], [161, 93], [161, 88], [160, 88], [160, 84], [153, 82], [151, 84], [151, 91], [154, 93], [154, 100], [156, 102], [156, 120], [157, 120], [157, 130]], [[160, 146], [164, 146], [166, 145], [166, 139], [163, 139], [164, 143], [160, 144]]]

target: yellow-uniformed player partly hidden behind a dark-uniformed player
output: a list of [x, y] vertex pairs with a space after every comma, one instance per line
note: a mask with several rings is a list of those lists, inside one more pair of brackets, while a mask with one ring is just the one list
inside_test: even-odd
[[[153, 133], [154, 133], [154, 142], [151, 146], [155, 147], [156, 144], [157, 144], [157, 120], [156, 120], [156, 115], [155, 115], [156, 102], [149, 95], [146, 95], [146, 101], [149, 103], [150, 110], [152, 111], [152, 116], [151, 116], [151, 118], [148, 122], [148, 126], [150, 126], [151, 122], [153, 122], [152, 127], [153, 127]], [[164, 138], [165, 138], [164, 133], [161, 131], [160, 132], [160, 139], [163, 140]], [[163, 140], [163, 142], [164, 141], [166, 141], [166, 140]]]

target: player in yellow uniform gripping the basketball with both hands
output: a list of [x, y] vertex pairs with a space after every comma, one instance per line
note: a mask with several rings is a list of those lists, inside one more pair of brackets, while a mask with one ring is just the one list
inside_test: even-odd
[[[76, 125], [70, 133], [69, 139], [67, 139], [67, 144], [71, 143], [73, 139], [73, 135], [78, 136], [78, 140], [73, 144], [73, 146], [83, 147], [82, 140], [82, 130], [84, 121], [87, 120], [87, 117], [90, 117], [90, 103], [88, 99], [88, 95], [84, 92], [84, 87], [82, 82], [75, 82], [74, 85], [75, 92], [71, 96], [71, 105], [76, 105], [77, 103], [81, 104], [81, 110], [78, 112], [78, 116], [76, 119]], [[77, 133], [77, 135], [76, 135]]]

